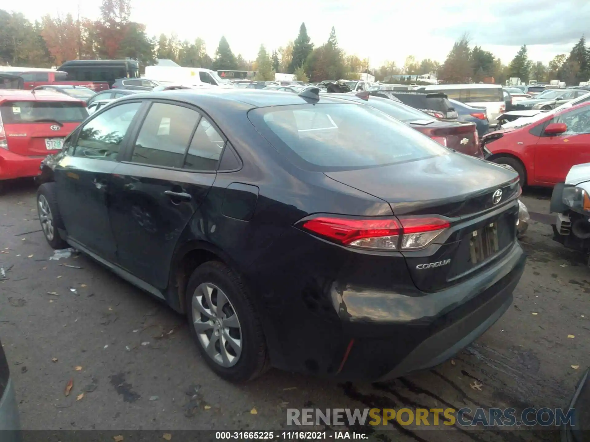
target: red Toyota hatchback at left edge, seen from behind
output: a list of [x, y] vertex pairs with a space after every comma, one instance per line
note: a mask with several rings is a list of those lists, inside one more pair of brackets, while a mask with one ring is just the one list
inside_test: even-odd
[[65, 94], [0, 90], [0, 187], [4, 180], [37, 176], [41, 160], [60, 151], [87, 116], [86, 105]]

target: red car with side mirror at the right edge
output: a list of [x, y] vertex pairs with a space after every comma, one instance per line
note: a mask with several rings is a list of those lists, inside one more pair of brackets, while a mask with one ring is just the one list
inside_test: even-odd
[[533, 121], [482, 137], [486, 159], [510, 166], [522, 186], [565, 181], [575, 164], [590, 163], [590, 103], [582, 103]]

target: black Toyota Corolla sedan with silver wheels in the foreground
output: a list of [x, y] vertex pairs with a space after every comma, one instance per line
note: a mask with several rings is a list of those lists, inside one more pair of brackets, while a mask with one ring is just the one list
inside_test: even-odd
[[114, 101], [38, 190], [48, 242], [186, 314], [228, 380], [271, 366], [383, 380], [444, 361], [512, 302], [518, 177], [318, 92]]

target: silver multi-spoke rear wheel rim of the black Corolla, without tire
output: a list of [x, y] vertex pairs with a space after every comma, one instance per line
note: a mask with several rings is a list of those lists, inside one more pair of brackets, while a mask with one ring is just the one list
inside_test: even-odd
[[233, 367], [242, 352], [242, 330], [234, 306], [216, 285], [204, 282], [192, 295], [196, 335], [205, 352], [222, 367]]

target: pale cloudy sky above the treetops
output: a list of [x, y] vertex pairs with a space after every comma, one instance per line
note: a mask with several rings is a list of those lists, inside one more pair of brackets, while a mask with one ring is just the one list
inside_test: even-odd
[[[145, 4], [146, 7], [143, 7]], [[22, 6], [20, 6], [22, 5]], [[30, 19], [44, 14], [99, 15], [100, 0], [11, 2]], [[132, 0], [133, 21], [149, 35], [176, 32], [180, 39], [201, 37], [213, 55], [225, 35], [235, 54], [254, 60], [261, 43], [272, 50], [297, 37], [301, 22], [316, 45], [336, 28], [340, 47], [372, 67], [385, 60], [404, 64], [407, 55], [440, 62], [455, 39], [467, 31], [471, 43], [507, 63], [522, 44], [534, 61], [549, 62], [569, 52], [586, 33], [590, 41], [589, 0]]]

